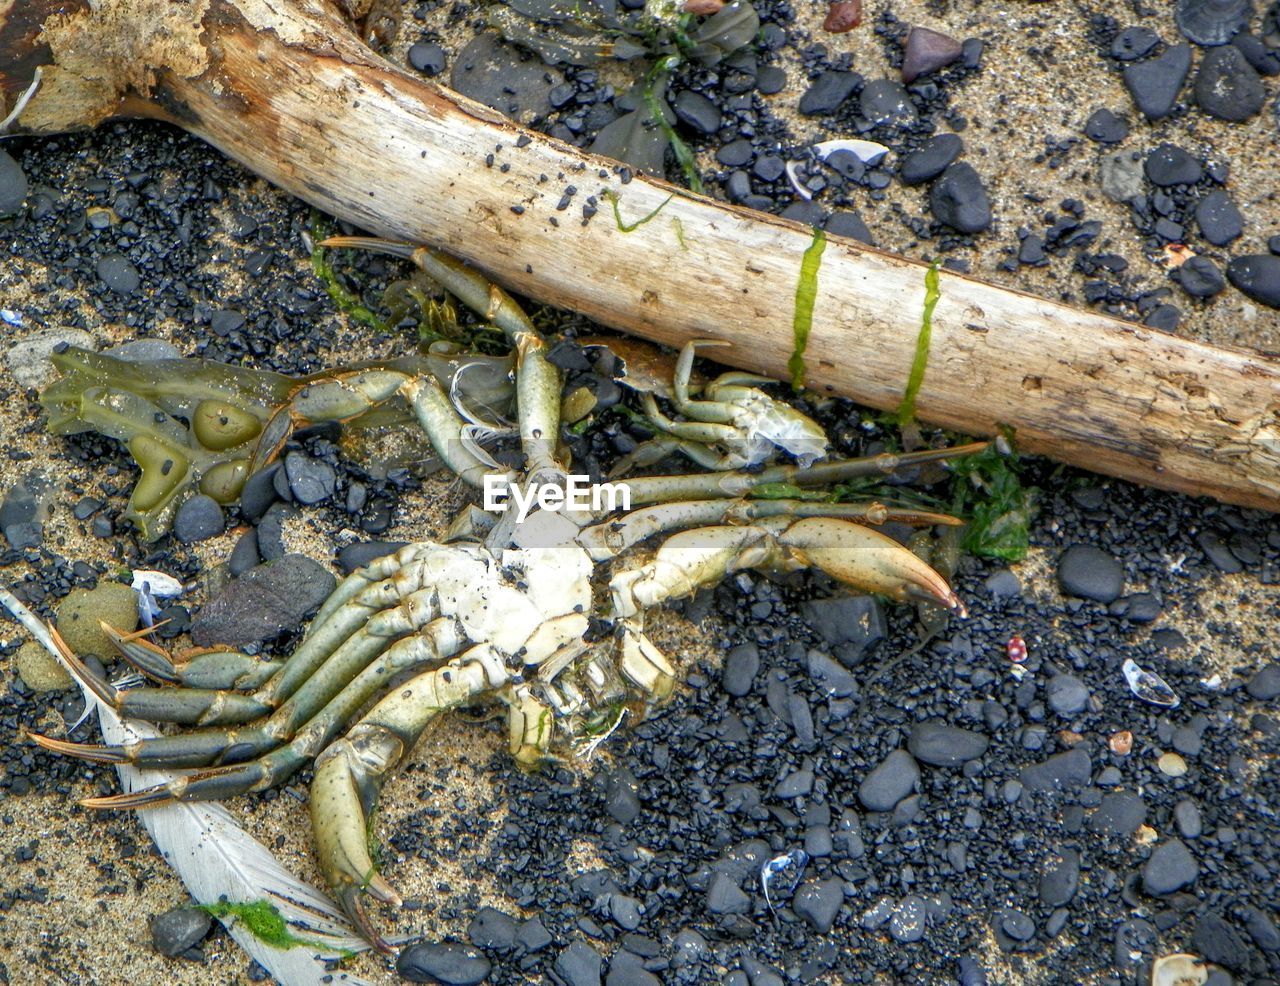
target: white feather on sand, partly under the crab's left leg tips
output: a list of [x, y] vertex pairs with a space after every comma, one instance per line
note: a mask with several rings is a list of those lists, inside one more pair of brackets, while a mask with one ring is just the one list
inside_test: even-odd
[[[86, 704], [97, 707], [106, 743], [115, 745], [134, 738], [160, 735], [145, 722], [122, 720], [115, 709], [102, 703], [79, 679], [74, 665], [63, 657], [49, 627], [10, 592], [0, 589], [0, 604], [72, 674]], [[170, 771], [142, 771], [128, 764], [115, 770], [127, 791], [164, 784], [178, 776]], [[329, 898], [285, 869], [220, 804], [166, 804], [140, 812], [138, 817], [197, 903], [214, 904], [224, 898], [232, 903], [269, 900], [293, 935], [316, 942], [314, 948], [276, 949], [256, 937], [234, 917], [220, 918], [230, 936], [280, 986], [366, 986], [364, 980], [335, 971], [325, 960], [340, 958], [344, 951], [362, 951], [369, 944], [355, 932]]]

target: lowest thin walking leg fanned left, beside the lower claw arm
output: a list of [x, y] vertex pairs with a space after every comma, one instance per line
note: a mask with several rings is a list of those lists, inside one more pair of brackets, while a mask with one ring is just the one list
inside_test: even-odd
[[288, 743], [276, 745], [270, 753], [229, 767], [197, 771], [140, 791], [87, 798], [82, 804], [86, 808], [147, 808], [168, 802], [220, 802], [274, 788], [329, 745], [360, 708], [396, 675], [422, 665], [439, 663], [462, 648], [465, 638], [456, 621], [439, 620], [431, 627], [439, 633], [416, 634], [396, 642], [302, 725]]

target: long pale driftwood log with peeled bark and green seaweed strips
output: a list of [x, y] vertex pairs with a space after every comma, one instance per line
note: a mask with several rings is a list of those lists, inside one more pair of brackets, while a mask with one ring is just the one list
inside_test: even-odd
[[[525, 131], [388, 64], [320, 0], [0, 0], [9, 108], [37, 67], [15, 133], [169, 120], [333, 215], [439, 246], [513, 291], [675, 346], [728, 339], [717, 359], [791, 375], [812, 229]], [[568, 184], [594, 218], [556, 210]], [[626, 224], [652, 218], [623, 232], [614, 206]], [[896, 407], [924, 274], [827, 242], [806, 385]], [[922, 420], [1011, 425], [1027, 452], [1280, 510], [1280, 361], [946, 271], [940, 287]]]

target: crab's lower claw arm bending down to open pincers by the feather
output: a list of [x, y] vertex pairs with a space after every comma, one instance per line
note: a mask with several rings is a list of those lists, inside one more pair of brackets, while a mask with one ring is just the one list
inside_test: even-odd
[[311, 827], [320, 872], [343, 910], [383, 950], [387, 942], [372, 928], [362, 899], [367, 893], [383, 903], [401, 904], [369, 850], [369, 820], [383, 784], [431, 720], [500, 686], [506, 676], [489, 644], [472, 647], [444, 667], [397, 686], [316, 759]]

